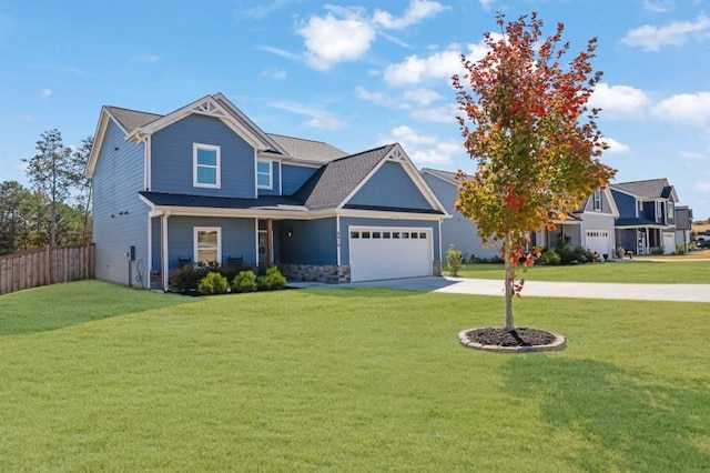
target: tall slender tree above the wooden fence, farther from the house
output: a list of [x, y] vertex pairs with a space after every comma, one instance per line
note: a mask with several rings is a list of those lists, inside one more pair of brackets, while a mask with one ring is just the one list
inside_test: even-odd
[[47, 195], [50, 203], [49, 244], [57, 245], [59, 207], [67, 203], [71, 188], [78, 184], [79, 171], [72, 151], [64, 147], [59, 130], [45, 131], [37, 142], [39, 151], [27, 162], [27, 173], [34, 190]]

